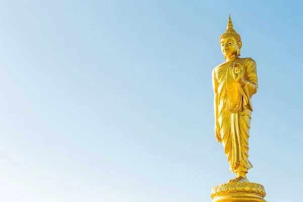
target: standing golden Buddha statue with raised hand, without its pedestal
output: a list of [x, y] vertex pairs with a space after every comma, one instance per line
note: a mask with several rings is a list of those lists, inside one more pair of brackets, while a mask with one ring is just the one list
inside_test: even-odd
[[251, 96], [258, 90], [257, 67], [251, 58], [239, 58], [241, 37], [230, 16], [219, 40], [226, 62], [213, 70], [215, 134], [224, 146], [230, 170], [237, 175], [229, 182], [247, 183], [246, 173], [252, 168], [248, 161], [248, 138]]

